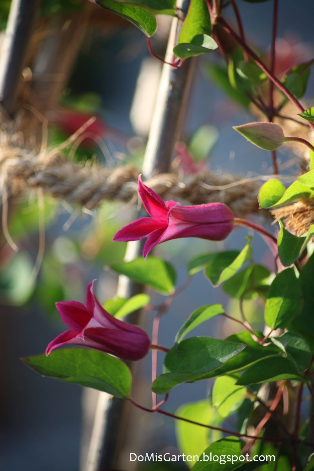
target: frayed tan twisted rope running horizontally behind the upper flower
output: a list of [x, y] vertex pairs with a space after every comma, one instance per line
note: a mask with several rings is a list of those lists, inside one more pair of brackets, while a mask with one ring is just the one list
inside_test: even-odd
[[[62, 155], [34, 155], [17, 147], [2, 148], [0, 173], [9, 191], [41, 189], [44, 194], [87, 209], [104, 201], [129, 202], [137, 195], [139, 172], [125, 165], [116, 168], [83, 164]], [[234, 175], [202, 171], [180, 178], [178, 173], [159, 174], [145, 184], [161, 195], [181, 203], [222, 202], [237, 215], [258, 211], [258, 182], [244, 181]]]

